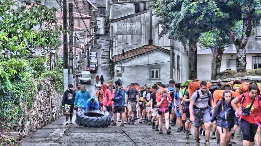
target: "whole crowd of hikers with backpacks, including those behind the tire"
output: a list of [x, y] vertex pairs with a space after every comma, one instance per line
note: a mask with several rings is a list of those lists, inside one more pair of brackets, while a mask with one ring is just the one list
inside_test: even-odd
[[117, 126], [117, 119], [120, 127], [133, 125], [139, 119], [139, 123], [151, 125], [159, 134], [163, 134], [165, 123], [166, 134], [170, 134], [171, 127], [177, 125], [176, 132], [184, 132], [186, 139], [192, 135], [190, 129], [194, 124], [196, 146], [200, 145], [201, 134], [205, 136], [205, 146], [210, 146], [210, 135], [220, 146], [232, 145], [238, 126], [243, 146], [253, 146], [254, 141], [256, 146], [261, 145], [261, 86], [253, 81], [235, 80], [211, 86], [197, 79], [176, 84], [170, 80], [166, 88], [161, 82], [122, 87], [119, 81], [113, 85], [109, 80], [98, 89], [96, 97], [91, 97], [80, 83], [76, 86], [73, 90], [69, 84], [64, 92], [66, 124], [72, 124], [74, 109], [100, 109], [112, 114], [111, 126]]

